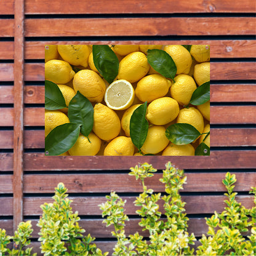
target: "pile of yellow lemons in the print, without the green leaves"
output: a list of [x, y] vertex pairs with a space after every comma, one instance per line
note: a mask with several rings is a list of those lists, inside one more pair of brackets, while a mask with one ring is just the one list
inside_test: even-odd
[[[141, 151], [163, 156], [193, 156], [206, 135], [188, 145], [175, 145], [165, 135], [175, 123], [187, 123], [202, 134], [210, 130], [210, 102], [188, 106], [198, 86], [210, 81], [210, 47], [179, 45], [110, 46], [119, 59], [118, 76], [108, 84], [95, 68], [92, 46], [46, 46], [46, 80], [55, 82], [66, 106], [79, 92], [94, 106], [94, 126], [89, 140], [80, 134], [70, 150], [73, 156], [141, 155], [130, 138], [130, 118], [134, 110], [147, 102], [146, 119], [150, 126]], [[148, 49], [162, 49], [174, 60], [177, 74], [164, 78], [147, 61]], [[75, 68], [76, 69], [75, 69]], [[76, 70], [77, 72], [75, 73]], [[45, 135], [55, 127], [70, 122], [68, 108], [45, 111]], [[204, 140], [210, 146], [210, 136]]]

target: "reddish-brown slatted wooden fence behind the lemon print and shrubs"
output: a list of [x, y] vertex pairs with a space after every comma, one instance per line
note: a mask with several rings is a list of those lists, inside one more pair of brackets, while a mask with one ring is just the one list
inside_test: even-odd
[[[253, 0], [9, 0], [0, 1], [0, 228], [13, 234], [32, 220], [40, 252], [39, 206], [65, 183], [81, 226], [102, 250], [111, 250], [110, 229], [98, 204], [114, 190], [132, 215], [127, 234], [138, 230], [132, 202], [142, 191], [127, 173], [138, 162], [185, 169], [182, 192], [190, 232], [207, 232], [204, 217], [224, 204], [225, 173], [238, 179], [238, 200], [252, 207], [256, 184], [255, 2]], [[210, 156], [44, 156], [44, 46], [46, 44], [210, 44]], [[163, 191], [161, 172], [148, 185]]]

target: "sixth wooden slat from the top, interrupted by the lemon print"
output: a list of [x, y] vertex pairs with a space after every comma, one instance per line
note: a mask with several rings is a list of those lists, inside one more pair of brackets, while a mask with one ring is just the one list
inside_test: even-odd
[[[211, 124], [255, 124], [256, 106], [210, 106]], [[13, 108], [2, 108], [0, 126], [14, 125]], [[25, 108], [25, 126], [44, 126], [44, 108]]]

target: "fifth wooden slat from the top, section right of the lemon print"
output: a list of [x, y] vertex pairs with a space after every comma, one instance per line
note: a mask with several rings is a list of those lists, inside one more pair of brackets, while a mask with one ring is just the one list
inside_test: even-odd
[[255, 102], [256, 84], [211, 84], [210, 102]]

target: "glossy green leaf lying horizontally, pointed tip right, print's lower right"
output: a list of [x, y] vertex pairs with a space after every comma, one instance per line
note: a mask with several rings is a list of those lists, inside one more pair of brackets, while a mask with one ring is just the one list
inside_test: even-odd
[[166, 129], [166, 137], [175, 145], [186, 145], [193, 142], [201, 133], [191, 124], [172, 124]]

